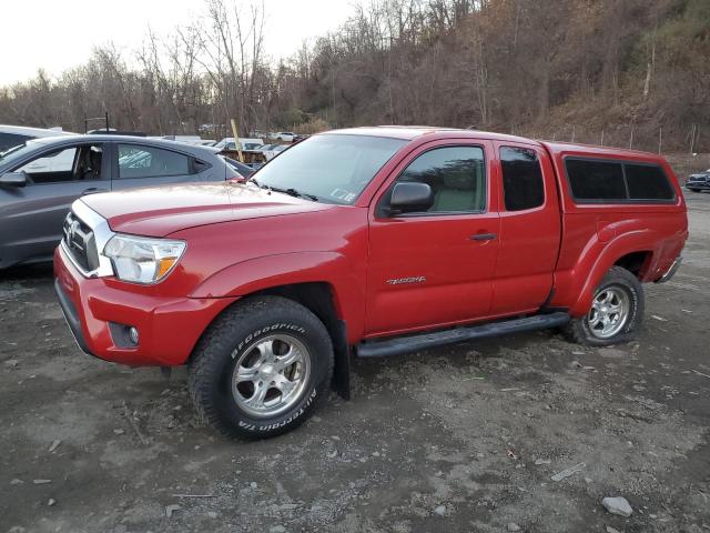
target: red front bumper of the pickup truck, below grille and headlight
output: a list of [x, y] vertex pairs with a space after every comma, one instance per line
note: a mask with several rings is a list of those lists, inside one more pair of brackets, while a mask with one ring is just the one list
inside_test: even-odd
[[[54, 251], [54, 290], [79, 348], [132, 366], [184, 364], [207, 325], [237, 300], [123, 291], [103, 278], [84, 278], [61, 248]], [[116, 334], [122, 326], [138, 329], [138, 345], [125, 345]]]

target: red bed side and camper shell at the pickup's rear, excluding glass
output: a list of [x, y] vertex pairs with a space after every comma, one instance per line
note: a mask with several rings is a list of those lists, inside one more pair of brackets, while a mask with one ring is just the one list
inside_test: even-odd
[[[560, 191], [562, 241], [555, 273], [554, 306], [567, 308], [574, 316], [587, 312], [595, 286], [619, 258], [633, 252], [650, 252], [641, 281], [658, 280], [680, 254], [688, 238], [686, 201], [670, 165], [653, 153], [542, 143], [549, 151]], [[622, 159], [657, 163], [663, 168], [676, 191], [674, 203], [663, 204], [578, 204], [565, 174], [565, 158]]]

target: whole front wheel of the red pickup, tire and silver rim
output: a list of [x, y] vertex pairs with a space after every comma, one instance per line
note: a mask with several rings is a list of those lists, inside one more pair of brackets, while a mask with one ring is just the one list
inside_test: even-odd
[[292, 300], [262, 296], [210, 326], [189, 385], [200, 415], [222, 434], [264, 439], [303, 423], [332, 375], [333, 343], [318, 318]]

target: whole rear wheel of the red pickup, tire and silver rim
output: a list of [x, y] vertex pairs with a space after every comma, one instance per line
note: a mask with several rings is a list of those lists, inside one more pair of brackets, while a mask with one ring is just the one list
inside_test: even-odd
[[631, 339], [643, 318], [643, 288], [621, 266], [612, 266], [597, 286], [589, 312], [574, 319], [568, 335], [579, 344], [606, 346]]

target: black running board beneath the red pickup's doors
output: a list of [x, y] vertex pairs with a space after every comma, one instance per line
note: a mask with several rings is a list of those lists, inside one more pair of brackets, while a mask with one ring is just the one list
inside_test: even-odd
[[487, 336], [556, 328], [565, 325], [567, 322], [569, 322], [569, 314], [566, 312], [555, 312], [503, 322], [489, 322], [487, 324], [456, 328], [434, 333], [419, 333], [384, 341], [369, 341], [357, 345], [357, 356], [388, 358], [390, 355], [418, 352], [419, 350], [444, 346], [446, 344], [457, 344], [459, 342], [485, 339]]

